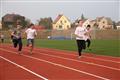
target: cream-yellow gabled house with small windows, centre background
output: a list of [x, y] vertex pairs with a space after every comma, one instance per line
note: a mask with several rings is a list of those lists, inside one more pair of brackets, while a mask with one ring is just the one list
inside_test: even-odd
[[67, 30], [71, 28], [70, 20], [64, 15], [58, 15], [53, 22], [53, 30]]

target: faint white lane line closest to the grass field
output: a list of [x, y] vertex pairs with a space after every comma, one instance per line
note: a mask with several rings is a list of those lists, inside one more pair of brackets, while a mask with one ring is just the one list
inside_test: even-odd
[[[40, 50], [40, 49], [36, 49], [36, 50]], [[45, 51], [49, 51], [49, 50], [45, 50]], [[56, 51], [49, 51], [49, 52], [55, 52], [55, 53], [58, 53], [58, 54], [64, 54], [64, 55], [72, 55], [72, 56], [77, 56], [75, 54], [66, 54], [66, 53], [60, 53], [60, 52], [56, 52]], [[88, 57], [88, 56], [84, 56], [86, 58], [91, 58], [91, 59], [95, 59], [95, 60], [101, 60], [101, 61], [107, 61], [107, 62], [113, 62], [113, 63], [120, 63], [119, 61], [116, 62], [116, 61], [113, 61], [113, 60], [106, 60], [106, 59], [101, 59], [101, 58], [94, 58], [94, 57]]]

